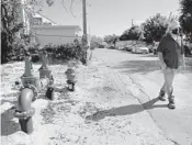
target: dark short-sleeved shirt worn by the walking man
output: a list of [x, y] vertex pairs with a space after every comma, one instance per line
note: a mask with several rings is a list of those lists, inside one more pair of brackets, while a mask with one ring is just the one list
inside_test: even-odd
[[163, 62], [169, 68], [178, 69], [179, 67], [179, 57], [184, 53], [182, 41], [180, 42], [181, 44], [174, 41], [170, 34], [167, 34], [159, 43], [157, 52], [162, 53]]

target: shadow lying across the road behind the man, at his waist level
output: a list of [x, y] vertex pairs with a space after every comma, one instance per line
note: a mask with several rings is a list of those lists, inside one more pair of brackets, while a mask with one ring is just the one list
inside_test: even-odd
[[122, 72], [140, 72], [147, 74], [150, 71], [159, 70], [159, 60], [126, 60], [112, 67], [113, 69], [123, 69]]

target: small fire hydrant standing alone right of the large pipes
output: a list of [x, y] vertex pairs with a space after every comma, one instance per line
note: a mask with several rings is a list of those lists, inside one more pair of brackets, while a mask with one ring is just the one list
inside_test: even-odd
[[76, 80], [76, 70], [75, 70], [76, 63], [75, 60], [70, 60], [67, 65], [67, 70], [65, 71], [67, 76], [67, 88], [69, 91], [75, 91]]

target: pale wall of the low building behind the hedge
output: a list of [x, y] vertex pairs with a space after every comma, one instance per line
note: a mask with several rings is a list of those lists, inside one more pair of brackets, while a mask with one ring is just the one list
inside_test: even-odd
[[[41, 46], [45, 46], [47, 44], [66, 44], [72, 43], [76, 38], [76, 30], [75, 29], [63, 29], [63, 27], [34, 27], [36, 41], [41, 44]], [[78, 38], [79, 40], [79, 38]]]

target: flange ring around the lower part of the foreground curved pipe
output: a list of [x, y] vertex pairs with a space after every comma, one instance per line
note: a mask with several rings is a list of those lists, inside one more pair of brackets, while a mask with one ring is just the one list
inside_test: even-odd
[[19, 110], [15, 110], [14, 116], [19, 119], [27, 119], [29, 116], [33, 116], [35, 114], [35, 109], [31, 108], [29, 111], [21, 112]]

